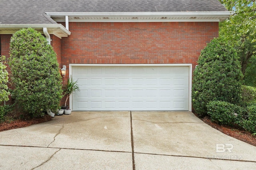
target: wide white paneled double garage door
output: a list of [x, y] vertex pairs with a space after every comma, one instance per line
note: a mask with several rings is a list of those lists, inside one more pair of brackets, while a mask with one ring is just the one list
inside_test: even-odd
[[188, 111], [189, 66], [72, 66], [73, 111]]

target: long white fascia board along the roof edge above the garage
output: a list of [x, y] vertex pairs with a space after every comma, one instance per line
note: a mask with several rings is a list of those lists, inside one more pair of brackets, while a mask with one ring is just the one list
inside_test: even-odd
[[230, 16], [234, 12], [46, 12], [51, 16]]

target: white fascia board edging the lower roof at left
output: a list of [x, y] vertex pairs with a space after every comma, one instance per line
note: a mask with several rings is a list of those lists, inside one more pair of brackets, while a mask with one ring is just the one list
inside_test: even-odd
[[[46, 27], [48, 29], [48, 32], [50, 34], [57, 34], [55, 31], [53, 31], [51, 33], [51, 29], [58, 29], [61, 31], [62, 34], [66, 35], [66, 37], [68, 35], [71, 34], [70, 31], [68, 31], [63, 25], [57, 23], [57, 24], [0, 24], [0, 31], [1, 29], [22, 29], [22, 28], [35, 28], [35, 29], [43, 29], [44, 27]], [[60, 35], [56, 35], [57, 37], [59, 37]]]

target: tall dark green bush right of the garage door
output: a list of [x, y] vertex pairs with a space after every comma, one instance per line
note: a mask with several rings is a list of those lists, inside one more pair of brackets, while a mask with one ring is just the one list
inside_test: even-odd
[[196, 113], [206, 115], [206, 105], [212, 100], [239, 103], [242, 76], [238, 56], [231, 46], [220, 39], [208, 43], [194, 70], [192, 104]]

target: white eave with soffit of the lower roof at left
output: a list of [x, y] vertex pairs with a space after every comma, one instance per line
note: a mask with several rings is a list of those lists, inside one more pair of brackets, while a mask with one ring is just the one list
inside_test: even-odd
[[61, 24], [0, 24], [0, 34], [13, 34], [22, 28], [34, 28], [40, 33], [43, 32], [43, 28], [48, 29], [49, 34], [56, 35], [59, 38], [68, 37], [71, 34], [63, 25]]

